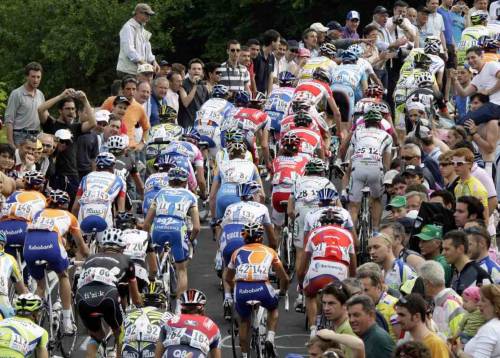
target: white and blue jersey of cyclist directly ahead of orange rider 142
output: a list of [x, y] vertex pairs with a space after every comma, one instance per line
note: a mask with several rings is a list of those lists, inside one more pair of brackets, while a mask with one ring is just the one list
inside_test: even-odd
[[221, 227], [228, 224], [270, 224], [269, 210], [255, 201], [240, 201], [229, 205], [222, 218]]

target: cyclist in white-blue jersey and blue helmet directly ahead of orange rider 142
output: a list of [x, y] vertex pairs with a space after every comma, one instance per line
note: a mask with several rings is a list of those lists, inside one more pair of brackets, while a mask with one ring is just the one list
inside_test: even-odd
[[[241, 201], [231, 204], [227, 207], [221, 222], [222, 234], [219, 240], [219, 251], [224, 258], [224, 278], [227, 272], [227, 266], [231, 260], [234, 251], [244, 245], [241, 237], [241, 230], [245, 224], [260, 223], [264, 226], [269, 246], [276, 248], [276, 239], [274, 237], [273, 225], [269, 217], [269, 210], [257, 199], [261, 187], [257, 182], [250, 181], [238, 184], [236, 194]], [[231, 295], [232, 287], [224, 283], [224, 317], [231, 319], [231, 306], [233, 298]]]

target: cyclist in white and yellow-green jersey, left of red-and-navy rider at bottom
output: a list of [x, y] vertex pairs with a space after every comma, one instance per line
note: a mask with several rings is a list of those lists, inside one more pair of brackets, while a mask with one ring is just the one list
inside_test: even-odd
[[154, 357], [161, 327], [174, 317], [170, 312], [162, 312], [165, 298], [160, 282], [153, 281], [142, 293], [144, 307], [126, 314], [118, 345], [122, 357]]

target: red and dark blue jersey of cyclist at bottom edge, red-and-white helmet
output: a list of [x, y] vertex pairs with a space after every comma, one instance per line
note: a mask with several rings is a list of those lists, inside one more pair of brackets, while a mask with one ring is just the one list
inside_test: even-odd
[[183, 352], [187, 349], [192, 357], [206, 358], [210, 350], [220, 347], [221, 334], [219, 327], [210, 318], [182, 313], [169, 319], [161, 327], [159, 341], [166, 348], [163, 357], [184, 357]]

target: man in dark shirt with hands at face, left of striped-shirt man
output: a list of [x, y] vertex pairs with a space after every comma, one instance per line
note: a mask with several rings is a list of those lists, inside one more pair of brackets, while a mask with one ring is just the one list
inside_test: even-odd
[[179, 89], [179, 125], [192, 127], [196, 112], [208, 98], [208, 88], [203, 82], [203, 62], [193, 58], [188, 63], [188, 76]]

